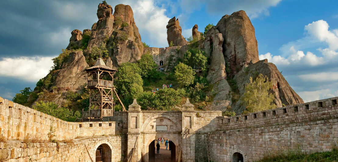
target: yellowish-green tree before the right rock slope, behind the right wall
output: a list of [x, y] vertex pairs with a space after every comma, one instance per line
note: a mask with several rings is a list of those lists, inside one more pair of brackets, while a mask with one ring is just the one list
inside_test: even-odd
[[252, 81], [250, 77], [250, 83], [245, 86], [245, 92], [241, 98], [247, 110], [244, 113], [276, 108], [273, 103], [274, 94], [269, 92], [272, 87], [272, 82], [263, 74], [259, 74], [255, 81]]

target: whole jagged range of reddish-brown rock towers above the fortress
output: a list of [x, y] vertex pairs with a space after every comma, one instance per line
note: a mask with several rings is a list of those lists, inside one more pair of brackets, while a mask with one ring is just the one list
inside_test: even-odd
[[[161, 66], [169, 70], [174, 68], [173, 62], [182, 59], [189, 48], [204, 50], [210, 62], [207, 72], [210, 85], [205, 93], [212, 99], [212, 105], [207, 106], [212, 110], [229, 111], [231, 108], [238, 114], [242, 113], [245, 107], [241, 105], [239, 98], [244, 93], [244, 86], [249, 83], [250, 76], [255, 77], [259, 73], [268, 76], [274, 83], [271, 92], [276, 96], [274, 102], [278, 107], [303, 103], [274, 64], [268, 63], [267, 60], [259, 61], [255, 28], [244, 11], [223, 16], [217, 25], [206, 33], [204, 39], [201, 39], [202, 33], [198, 31], [198, 26], [194, 25], [192, 37], [197, 42], [193, 46], [188, 45], [182, 36], [178, 19], [173, 17], [166, 26], [167, 41], [169, 45], [172, 42], [173, 46], [180, 47], [170, 48], [143, 47], [134, 13], [129, 5], [115, 6], [113, 14], [112, 6], [100, 3], [97, 17], [98, 21], [93, 24], [91, 30], [72, 31], [67, 49], [83, 48], [82, 41], [88, 41], [88, 35], [84, 33], [91, 31], [87, 49], [83, 48], [83, 52], [72, 51], [61, 69], [55, 69], [49, 74], [49, 78], [52, 76], [52, 79], [49, 79], [52, 85], [48, 83], [48, 86], [41, 86], [47, 91], [38, 100], [62, 105], [67, 102], [64, 93], [69, 90], [81, 92], [82, 86], [87, 83], [87, 75], [84, 72], [88, 67], [86, 59], [88, 61], [92, 57], [90, 54], [93, 47], [103, 43], [108, 49], [108, 56], [104, 56], [104, 59], [110, 68], [118, 67], [124, 62], [136, 62], [143, 53], [148, 52], [153, 55], [157, 64], [162, 61], [164, 64]], [[41, 87], [34, 93], [42, 92]]]

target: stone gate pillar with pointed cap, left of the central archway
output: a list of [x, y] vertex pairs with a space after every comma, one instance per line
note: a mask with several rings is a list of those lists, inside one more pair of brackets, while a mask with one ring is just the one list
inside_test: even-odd
[[136, 99], [129, 105], [128, 109], [128, 148], [127, 159], [132, 159], [132, 162], [141, 161], [141, 106], [137, 104]]

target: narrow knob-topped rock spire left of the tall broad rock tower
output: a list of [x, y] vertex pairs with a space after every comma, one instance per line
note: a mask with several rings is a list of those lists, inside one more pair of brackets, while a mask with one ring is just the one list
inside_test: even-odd
[[113, 8], [111, 5], [100, 3], [97, 9], [97, 18], [99, 20], [92, 26], [92, 35], [88, 42], [88, 49], [98, 46], [104, 41], [106, 36], [110, 36], [114, 27]]

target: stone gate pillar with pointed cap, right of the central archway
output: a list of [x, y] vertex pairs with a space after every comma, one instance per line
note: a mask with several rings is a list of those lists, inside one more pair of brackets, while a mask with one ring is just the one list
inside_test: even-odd
[[182, 160], [195, 160], [194, 105], [187, 101], [182, 105]]

